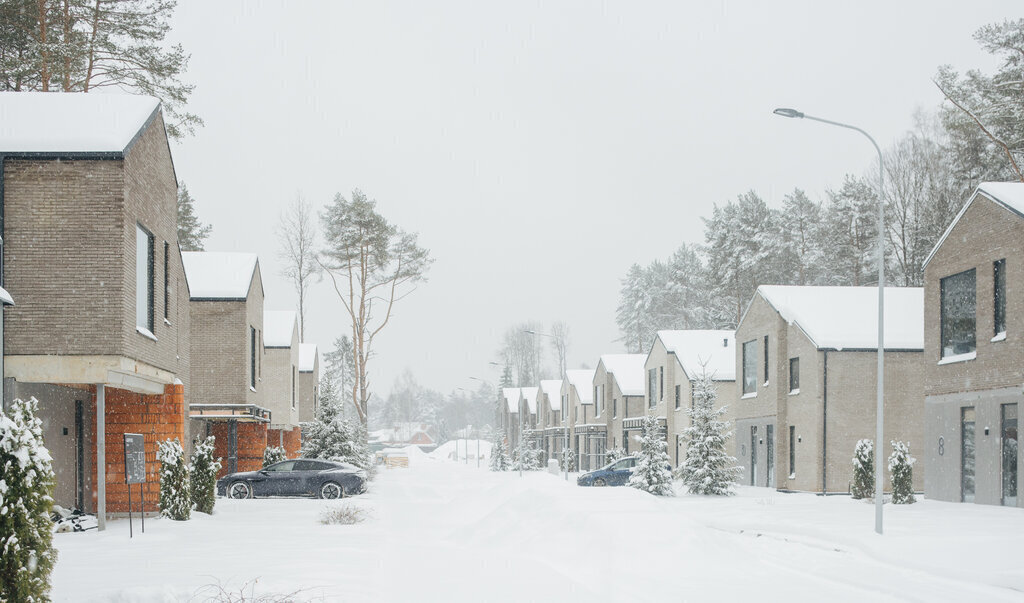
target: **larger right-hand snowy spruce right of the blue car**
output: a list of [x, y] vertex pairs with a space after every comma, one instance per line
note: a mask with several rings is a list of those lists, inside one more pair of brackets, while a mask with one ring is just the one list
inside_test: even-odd
[[725, 407], [715, 408], [717, 398], [715, 384], [705, 372], [693, 382], [693, 407], [687, 411], [690, 425], [683, 430], [686, 459], [677, 472], [691, 494], [731, 496], [739, 479], [741, 468], [725, 451], [732, 432], [729, 423], [720, 420]]

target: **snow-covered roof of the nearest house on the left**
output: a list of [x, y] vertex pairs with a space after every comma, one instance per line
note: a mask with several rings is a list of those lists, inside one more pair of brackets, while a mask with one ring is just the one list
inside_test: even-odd
[[159, 106], [132, 94], [0, 92], [0, 153], [124, 153]]

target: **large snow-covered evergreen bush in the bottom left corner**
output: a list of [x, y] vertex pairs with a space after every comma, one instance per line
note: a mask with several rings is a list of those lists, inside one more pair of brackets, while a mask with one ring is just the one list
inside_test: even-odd
[[0, 408], [0, 601], [48, 601], [53, 469], [36, 398]]

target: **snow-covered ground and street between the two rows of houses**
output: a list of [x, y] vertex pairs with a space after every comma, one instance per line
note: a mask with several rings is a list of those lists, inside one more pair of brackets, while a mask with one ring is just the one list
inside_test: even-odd
[[[570, 476], [571, 478], [571, 476]], [[357, 525], [322, 525], [341, 504]], [[204, 600], [221, 584], [297, 600], [1002, 601], [1024, 598], [1024, 512], [743, 487], [732, 499], [582, 488], [411, 456], [366, 496], [218, 500], [213, 516], [56, 534], [57, 601]]]

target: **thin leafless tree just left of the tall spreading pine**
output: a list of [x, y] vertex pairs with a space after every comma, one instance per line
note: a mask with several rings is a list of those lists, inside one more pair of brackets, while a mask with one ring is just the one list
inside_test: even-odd
[[299, 341], [306, 340], [306, 293], [312, 279], [321, 273], [316, 262], [316, 226], [309, 203], [296, 195], [281, 215], [278, 225], [281, 259], [285, 267], [281, 275], [292, 282], [299, 294]]

